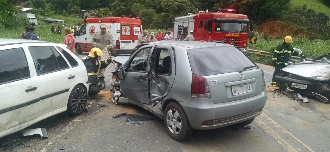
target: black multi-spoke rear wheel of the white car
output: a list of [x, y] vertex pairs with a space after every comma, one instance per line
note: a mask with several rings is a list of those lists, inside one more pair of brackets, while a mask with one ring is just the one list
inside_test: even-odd
[[75, 86], [70, 95], [67, 104], [67, 112], [71, 116], [78, 116], [85, 111], [87, 104], [87, 90], [82, 85]]

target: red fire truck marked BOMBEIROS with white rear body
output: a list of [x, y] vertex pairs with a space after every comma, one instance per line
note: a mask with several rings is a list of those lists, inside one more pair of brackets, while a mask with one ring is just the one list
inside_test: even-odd
[[231, 44], [246, 52], [248, 46], [248, 33], [253, 30], [254, 24], [248, 16], [234, 14], [233, 9], [219, 9], [216, 13], [200, 11], [199, 14], [188, 14], [175, 18], [174, 34], [179, 33], [186, 37], [189, 31], [194, 31], [195, 41], [217, 41]]

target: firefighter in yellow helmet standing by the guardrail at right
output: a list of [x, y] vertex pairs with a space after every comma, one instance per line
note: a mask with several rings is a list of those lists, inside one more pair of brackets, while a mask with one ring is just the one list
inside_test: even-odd
[[295, 51], [292, 46], [292, 37], [285, 36], [283, 43], [278, 45], [273, 52], [273, 66], [275, 66], [275, 71], [272, 79], [272, 86], [276, 87], [275, 76], [278, 75], [282, 68], [288, 65], [291, 56], [303, 57], [303, 53]]

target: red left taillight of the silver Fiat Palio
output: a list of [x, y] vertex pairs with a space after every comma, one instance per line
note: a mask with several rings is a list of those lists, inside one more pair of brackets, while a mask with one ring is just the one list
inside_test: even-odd
[[192, 74], [191, 81], [191, 97], [193, 98], [209, 98], [211, 97], [209, 85], [206, 78]]

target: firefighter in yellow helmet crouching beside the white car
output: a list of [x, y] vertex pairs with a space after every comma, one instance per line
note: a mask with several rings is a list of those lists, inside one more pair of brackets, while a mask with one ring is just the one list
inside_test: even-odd
[[105, 84], [97, 77], [98, 70], [106, 68], [112, 60], [108, 58], [104, 61], [100, 61], [101, 56], [103, 56], [102, 50], [99, 48], [93, 48], [90, 50], [88, 57], [83, 62], [87, 69], [89, 96], [96, 95], [105, 88]]

